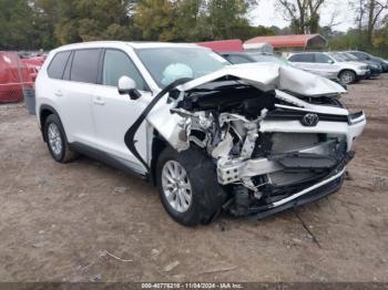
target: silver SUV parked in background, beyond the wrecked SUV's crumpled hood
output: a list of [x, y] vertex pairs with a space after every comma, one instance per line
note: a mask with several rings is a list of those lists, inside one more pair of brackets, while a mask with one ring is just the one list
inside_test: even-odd
[[350, 84], [358, 80], [368, 77], [368, 65], [361, 62], [344, 62], [335, 58], [329, 52], [298, 52], [292, 53], [288, 61], [295, 66], [309, 72], [320, 70], [333, 70], [337, 72], [337, 77], [341, 83]]

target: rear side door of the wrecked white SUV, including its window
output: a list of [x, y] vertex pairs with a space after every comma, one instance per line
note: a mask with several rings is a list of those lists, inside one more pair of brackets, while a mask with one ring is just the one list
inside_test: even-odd
[[98, 82], [101, 49], [74, 50], [55, 95], [69, 142], [95, 145], [92, 96]]

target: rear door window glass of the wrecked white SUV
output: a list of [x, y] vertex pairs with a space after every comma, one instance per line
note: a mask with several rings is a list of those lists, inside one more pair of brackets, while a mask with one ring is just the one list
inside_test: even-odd
[[99, 61], [99, 49], [74, 51], [70, 80], [81, 83], [96, 83]]

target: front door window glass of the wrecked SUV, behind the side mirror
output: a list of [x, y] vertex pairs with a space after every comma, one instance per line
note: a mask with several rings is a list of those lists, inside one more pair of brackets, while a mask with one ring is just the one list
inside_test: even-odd
[[106, 50], [102, 70], [102, 84], [118, 86], [119, 79], [123, 75], [135, 81], [137, 90], [146, 90], [145, 82], [131, 59], [122, 51]]

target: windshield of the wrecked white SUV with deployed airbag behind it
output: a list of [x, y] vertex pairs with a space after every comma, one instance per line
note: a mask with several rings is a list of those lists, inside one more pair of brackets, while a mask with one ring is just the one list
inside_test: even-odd
[[196, 79], [228, 65], [215, 52], [202, 48], [139, 49], [136, 53], [159, 86], [182, 79]]

